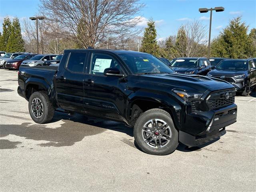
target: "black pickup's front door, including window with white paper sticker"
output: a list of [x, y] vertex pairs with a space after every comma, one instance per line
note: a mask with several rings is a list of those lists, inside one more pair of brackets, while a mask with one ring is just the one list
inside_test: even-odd
[[[92, 51], [88, 78], [84, 79], [84, 109], [93, 114], [120, 120], [123, 108], [118, 108], [120, 90], [118, 86], [122, 80], [118, 77], [104, 76], [105, 68], [123, 69], [117, 58], [109, 53]], [[121, 86], [122, 87], [122, 86]]]

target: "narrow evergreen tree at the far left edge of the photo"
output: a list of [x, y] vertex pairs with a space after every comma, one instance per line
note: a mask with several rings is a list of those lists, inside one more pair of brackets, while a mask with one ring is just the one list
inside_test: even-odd
[[11, 20], [8, 16], [6, 16], [4, 18], [4, 22], [3, 22], [3, 34], [0, 38], [0, 50], [1, 51], [6, 51], [6, 44], [8, 42], [8, 38], [11, 34]]

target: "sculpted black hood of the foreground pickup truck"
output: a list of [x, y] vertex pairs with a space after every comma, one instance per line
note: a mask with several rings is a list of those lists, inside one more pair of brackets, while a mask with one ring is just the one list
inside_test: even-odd
[[168, 84], [170, 86], [168, 89], [170, 90], [173, 88], [181, 88], [204, 93], [208, 90], [215, 91], [234, 88], [232, 84], [224, 80], [216, 80], [210, 77], [194, 74], [148, 74], [140, 75], [139, 79], [142, 81], [151, 82], [155, 86], [158, 86], [158, 84]]

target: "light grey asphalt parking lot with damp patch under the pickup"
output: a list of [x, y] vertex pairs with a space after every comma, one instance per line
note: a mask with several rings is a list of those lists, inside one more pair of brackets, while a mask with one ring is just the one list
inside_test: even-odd
[[35, 124], [17, 73], [0, 69], [0, 191], [255, 191], [255, 93], [236, 96], [220, 140], [153, 156], [121, 123], [55, 112]]

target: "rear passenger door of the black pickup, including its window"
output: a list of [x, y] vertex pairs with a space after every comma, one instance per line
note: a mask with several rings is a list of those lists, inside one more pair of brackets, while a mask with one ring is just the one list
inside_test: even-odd
[[87, 52], [70, 52], [66, 63], [57, 72], [57, 100], [61, 108], [72, 111], [84, 111], [84, 69]]

